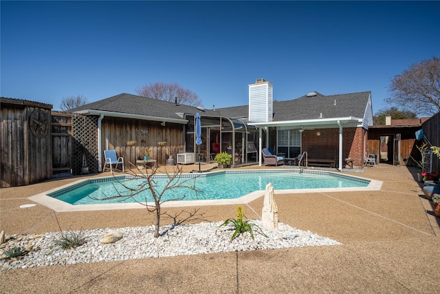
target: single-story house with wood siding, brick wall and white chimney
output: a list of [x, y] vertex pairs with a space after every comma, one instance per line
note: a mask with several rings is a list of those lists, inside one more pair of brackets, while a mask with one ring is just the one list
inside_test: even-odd
[[[339, 169], [345, 158], [362, 165], [367, 132], [373, 125], [371, 92], [331, 96], [311, 92], [290, 101], [273, 101], [272, 88], [272, 83], [258, 79], [249, 85], [248, 105], [220, 109], [119, 94], [72, 109], [72, 136], [78, 146], [87, 144], [91, 171], [102, 169], [104, 149], [115, 149], [133, 164], [151, 149], [159, 165], [166, 164], [169, 156], [178, 163], [209, 162], [223, 151], [232, 155], [232, 166], [261, 165], [261, 148], [271, 147], [286, 158], [304, 152], [309, 157], [336, 156], [334, 167]], [[202, 127], [199, 146], [195, 145], [197, 112]]]

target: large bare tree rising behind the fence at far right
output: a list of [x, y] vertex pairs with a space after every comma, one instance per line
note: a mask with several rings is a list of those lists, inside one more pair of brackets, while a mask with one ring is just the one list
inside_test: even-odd
[[410, 110], [417, 115], [440, 112], [440, 59], [432, 57], [414, 63], [391, 81], [393, 96], [387, 103]]

